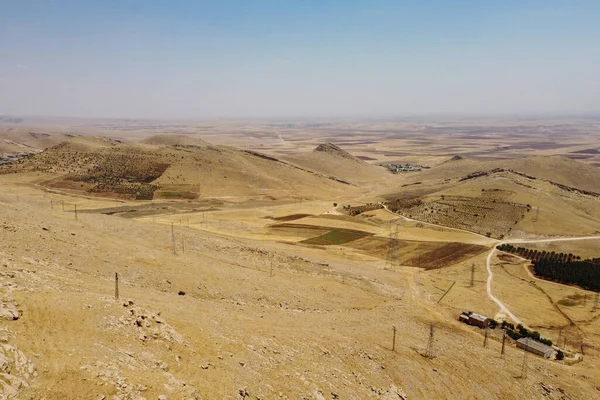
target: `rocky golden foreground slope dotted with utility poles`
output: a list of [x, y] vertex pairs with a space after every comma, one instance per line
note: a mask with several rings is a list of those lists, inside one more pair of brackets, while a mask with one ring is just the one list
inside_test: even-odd
[[[484, 348], [482, 331], [456, 321], [465, 304], [494, 309], [483, 272], [473, 289], [464, 281], [471, 260], [389, 270], [375, 258], [185, 224], [173, 251], [168, 223], [97, 214], [111, 202], [22, 185], [35, 175], [0, 179], [10, 188], [0, 193], [3, 309], [18, 316], [1, 322], [8, 397], [596, 396], [592, 348], [572, 366], [530, 355], [521, 377], [513, 344], [501, 356], [499, 337]], [[440, 304], [436, 288], [448, 279], [459, 283]]]

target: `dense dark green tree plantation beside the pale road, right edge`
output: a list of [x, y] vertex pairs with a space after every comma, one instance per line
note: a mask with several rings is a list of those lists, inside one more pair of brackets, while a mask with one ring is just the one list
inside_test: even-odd
[[541, 278], [600, 291], [600, 258], [581, 260], [571, 253], [539, 251], [510, 244], [497, 248], [532, 260], [534, 272]]

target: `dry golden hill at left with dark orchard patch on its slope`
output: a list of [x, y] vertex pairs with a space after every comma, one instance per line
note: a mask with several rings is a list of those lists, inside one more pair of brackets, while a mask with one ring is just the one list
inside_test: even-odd
[[48, 178], [43, 184], [51, 188], [139, 200], [154, 196], [327, 198], [359, 190], [339, 178], [257, 152], [181, 137], [149, 142], [154, 145], [76, 137], [3, 171], [43, 173]]

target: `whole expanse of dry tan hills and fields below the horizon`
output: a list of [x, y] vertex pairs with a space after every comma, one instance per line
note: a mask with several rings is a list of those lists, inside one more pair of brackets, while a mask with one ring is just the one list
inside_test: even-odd
[[[592, 120], [0, 125], [0, 155], [31, 151], [0, 166], [0, 397], [599, 398], [594, 292], [491, 256], [491, 293], [565, 351], [524, 377], [512, 340], [501, 356], [499, 329], [483, 347], [457, 320], [511, 322], [486, 290], [500, 238], [600, 236], [599, 138]], [[524, 246], [600, 257], [600, 239]]]

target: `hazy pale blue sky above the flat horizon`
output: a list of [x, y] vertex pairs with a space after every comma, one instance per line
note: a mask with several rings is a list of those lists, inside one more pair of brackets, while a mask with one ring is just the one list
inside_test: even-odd
[[598, 112], [597, 0], [0, 0], [0, 114]]

